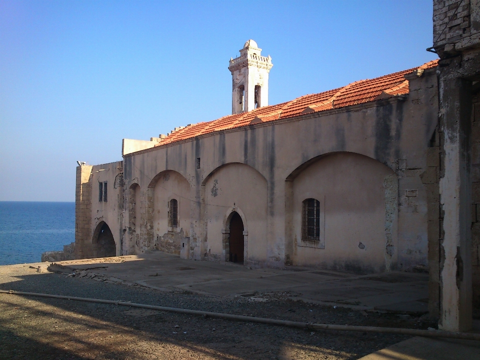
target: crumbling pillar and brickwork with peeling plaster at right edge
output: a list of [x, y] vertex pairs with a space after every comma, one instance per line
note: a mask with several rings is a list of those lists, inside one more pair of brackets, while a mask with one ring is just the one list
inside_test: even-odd
[[[433, 47], [438, 62], [440, 134], [438, 273], [430, 267], [430, 305], [438, 288], [439, 328], [471, 327], [472, 290], [478, 291], [478, 175], [476, 121], [471, 120], [475, 82], [480, 80], [480, 1], [433, 0]], [[473, 105], [475, 110], [475, 105]], [[473, 250], [473, 251], [472, 251]], [[436, 265], [435, 265], [436, 266]], [[473, 295], [477, 301], [477, 295]]]

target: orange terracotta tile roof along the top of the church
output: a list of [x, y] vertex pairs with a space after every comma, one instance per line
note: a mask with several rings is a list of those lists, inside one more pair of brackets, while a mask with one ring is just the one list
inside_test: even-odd
[[316, 94], [304, 95], [277, 105], [260, 107], [248, 112], [227, 115], [213, 121], [190, 124], [172, 131], [156, 146], [184, 140], [205, 133], [245, 126], [253, 123], [273, 121], [298, 116], [309, 112], [319, 112], [344, 106], [356, 105], [379, 98], [408, 93], [408, 80], [405, 75], [413, 71], [436, 67], [438, 60], [424, 63], [419, 67], [394, 72], [389, 75], [352, 82], [346, 86]]

